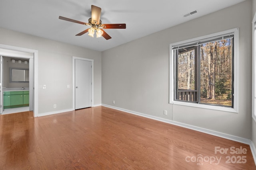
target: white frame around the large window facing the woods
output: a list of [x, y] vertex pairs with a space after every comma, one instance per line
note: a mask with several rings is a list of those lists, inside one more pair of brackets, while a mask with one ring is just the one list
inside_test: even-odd
[[[201, 39], [207, 39], [211, 37], [216, 37], [219, 35], [224, 35], [228, 33], [234, 33], [234, 82], [233, 82], [233, 88], [234, 88], [234, 94], [233, 94], [233, 108], [231, 107], [224, 107], [224, 106], [212, 106], [212, 105], [206, 105], [206, 104], [198, 104], [198, 103], [190, 103], [190, 102], [182, 102], [182, 101], [176, 101], [174, 100], [174, 74], [175, 74], [175, 64], [174, 64], [174, 53], [172, 50], [172, 46], [176, 46], [179, 44], [185, 44], [189, 42], [194, 42], [194, 41], [199, 41]], [[180, 41], [177, 43], [171, 43], [170, 44], [170, 94], [169, 94], [169, 103], [174, 104], [174, 105], [183, 105], [183, 106], [191, 106], [191, 107], [200, 107], [204, 109], [212, 109], [212, 110], [220, 110], [220, 111], [228, 111], [228, 112], [233, 112], [233, 113], [238, 113], [238, 57], [239, 57], [239, 29], [234, 28], [234, 29], [229, 29], [226, 31], [221, 31], [218, 33], [213, 33], [210, 35], [205, 35], [202, 37], [197, 37], [193, 39], [188, 39], [185, 41]]]

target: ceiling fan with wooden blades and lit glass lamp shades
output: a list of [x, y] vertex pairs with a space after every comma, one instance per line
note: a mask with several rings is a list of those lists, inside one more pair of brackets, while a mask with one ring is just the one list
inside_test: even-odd
[[83, 35], [83, 34], [89, 32], [88, 35], [91, 37], [94, 37], [94, 31], [96, 31], [96, 37], [102, 36], [106, 40], [108, 40], [111, 37], [103, 29], [125, 29], [126, 28], [125, 23], [102, 24], [102, 22], [100, 20], [101, 8], [92, 5], [91, 10], [92, 10], [92, 18], [89, 18], [88, 23], [77, 21], [77, 20], [72, 20], [70, 18], [65, 18], [62, 16], [59, 16], [59, 19], [90, 26], [90, 28], [76, 34], [76, 36], [80, 36], [80, 35]]

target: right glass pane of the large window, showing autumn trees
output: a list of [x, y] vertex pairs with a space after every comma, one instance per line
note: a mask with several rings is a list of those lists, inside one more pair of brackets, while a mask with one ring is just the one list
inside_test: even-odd
[[200, 103], [232, 107], [233, 39], [200, 45]]

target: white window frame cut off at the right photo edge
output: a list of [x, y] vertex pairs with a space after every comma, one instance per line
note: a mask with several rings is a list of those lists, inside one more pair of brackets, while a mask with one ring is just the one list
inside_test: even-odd
[[252, 118], [256, 121], [256, 13], [252, 20]]

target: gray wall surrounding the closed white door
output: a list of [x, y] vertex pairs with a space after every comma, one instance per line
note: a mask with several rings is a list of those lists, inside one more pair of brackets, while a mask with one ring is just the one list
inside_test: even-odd
[[101, 104], [101, 52], [3, 28], [0, 37], [0, 44], [38, 50], [39, 115], [72, 109], [72, 56], [94, 59], [94, 105]]

